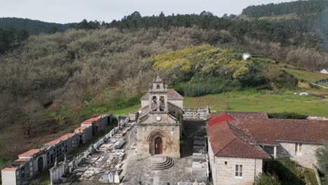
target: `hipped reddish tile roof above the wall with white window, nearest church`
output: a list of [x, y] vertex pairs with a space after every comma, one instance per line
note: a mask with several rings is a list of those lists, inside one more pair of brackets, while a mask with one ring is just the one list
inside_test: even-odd
[[219, 121], [207, 127], [207, 136], [214, 156], [239, 158], [270, 158], [250, 135], [238, 130], [229, 121]]

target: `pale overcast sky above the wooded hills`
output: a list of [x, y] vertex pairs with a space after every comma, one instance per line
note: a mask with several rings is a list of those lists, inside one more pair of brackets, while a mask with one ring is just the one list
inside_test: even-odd
[[[285, 0], [290, 1], [290, 0]], [[0, 17], [29, 18], [46, 22], [121, 20], [139, 11], [141, 15], [200, 13], [240, 14], [250, 5], [279, 3], [282, 0], [0, 0]]]

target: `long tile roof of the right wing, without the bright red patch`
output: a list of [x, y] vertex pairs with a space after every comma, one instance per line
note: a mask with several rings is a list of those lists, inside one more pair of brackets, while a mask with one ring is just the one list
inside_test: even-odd
[[278, 145], [277, 141], [328, 142], [328, 121], [295, 119], [241, 119], [238, 127], [250, 133], [259, 144]]

